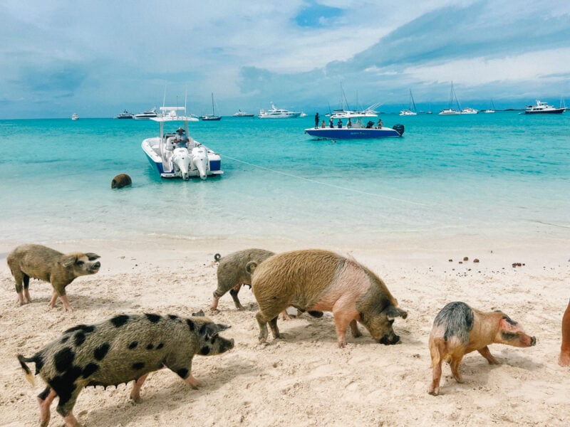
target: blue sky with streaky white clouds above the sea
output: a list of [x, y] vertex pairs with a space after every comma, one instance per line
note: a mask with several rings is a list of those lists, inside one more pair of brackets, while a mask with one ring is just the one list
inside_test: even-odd
[[567, 0], [2, 0], [0, 119], [570, 102]]

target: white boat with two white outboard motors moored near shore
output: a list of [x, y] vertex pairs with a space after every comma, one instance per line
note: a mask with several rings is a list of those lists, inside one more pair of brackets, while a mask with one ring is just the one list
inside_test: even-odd
[[[150, 118], [158, 122], [158, 136], [146, 138], [141, 144], [142, 151], [160, 176], [187, 180], [193, 176], [207, 179], [207, 176], [223, 174], [219, 154], [188, 134], [188, 122], [198, 119], [187, 116], [185, 107], [160, 107], [160, 110], [160, 115]], [[178, 115], [179, 111], [183, 115]], [[172, 130], [165, 130], [166, 126], [172, 126]], [[177, 126], [178, 130], [174, 129]]]

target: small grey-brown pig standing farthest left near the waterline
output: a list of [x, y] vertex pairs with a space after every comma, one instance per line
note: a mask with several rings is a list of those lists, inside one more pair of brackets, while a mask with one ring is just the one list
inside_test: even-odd
[[[53, 295], [49, 302], [50, 307], [56, 306], [56, 300], [59, 297], [63, 302], [63, 307], [71, 311], [66, 286], [81, 275], [97, 273], [101, 266], [101, 263], [96, 261], [98, 258], [100, 256], [95, 253], [63, 254], [46, 246], [22, 245], [11, 251], [6, 260], [16, 280], [16, 292], [20, 305], [31, 302], [28, 286], [30, 278], [34, 278], [51, 283]], [[22, 292], [22, 284], [24, 284], [24, 292]]]

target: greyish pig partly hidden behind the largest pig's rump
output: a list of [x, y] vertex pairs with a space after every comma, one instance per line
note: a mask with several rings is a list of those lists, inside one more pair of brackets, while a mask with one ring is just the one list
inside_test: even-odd
[[219, 262], [217, 277], [218, 287], [214, 290], [214, 300], [210, 309], [217, 310], [219, 299], [229, 291], [238, 310], [245, 310], [237, 294], [242, 285], [252, 285], [252, 270], [264, 260], [274, 255], [273, 252], [264, 249], [244, 249], [229, 253], [220, 258], [219, 253], [214, 255], [214, 260]]

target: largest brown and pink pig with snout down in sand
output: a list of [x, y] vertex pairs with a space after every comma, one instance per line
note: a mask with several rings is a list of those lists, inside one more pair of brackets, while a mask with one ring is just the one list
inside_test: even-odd
[[329, 251], [307, 249], [279, 253], [255, 268], [252, 280], [259, 304], [256, 318], [259, 342], [266, 342], [267, 322], [274, 338], [279, 338], [277, 317], [289, 305], [301, 311], [331, 311], [334, 315], [338, 347], [346, 345], [346, 329], [361, 336], [356, 321], [361, 322], [373, 339], [395, 344], [394, 317], [407, 312], [371, 270]]

